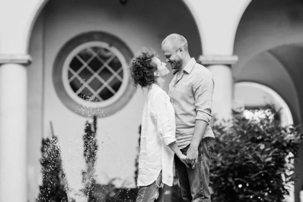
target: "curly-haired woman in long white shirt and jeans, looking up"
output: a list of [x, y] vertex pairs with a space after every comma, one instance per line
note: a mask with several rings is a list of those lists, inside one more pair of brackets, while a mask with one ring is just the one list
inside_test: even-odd
[[164, 199], [166, 187], [173, 184], [174, 153], [183, 163], [186, 162], [186, 156], [176, 143], [174, 108], [163, 90], [169, 70], [151, 48], [143, 48], [132, 59], [129, 68], [134, 86], [147, 89], [142, 115], [136, 202], [160, 202]]

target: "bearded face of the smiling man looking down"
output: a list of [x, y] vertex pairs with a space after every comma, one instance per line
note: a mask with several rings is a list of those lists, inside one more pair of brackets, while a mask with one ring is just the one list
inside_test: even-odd
[[162, 52], [166, 58], [166, 62], [169, 63], [172, 69], [179, 69], [182, 66], [182, 58], [179, 50], [170, 44], [162, 45]]

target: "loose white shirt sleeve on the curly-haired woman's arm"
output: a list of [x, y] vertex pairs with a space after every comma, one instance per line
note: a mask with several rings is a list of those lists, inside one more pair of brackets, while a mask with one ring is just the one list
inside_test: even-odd
[[166, 104], [165, 92], [159, 92], [153, 96], [151, 100], [150, 116], [157, 127], [157, 131], [166, 145], [177, 141], [175, 131], [172, 130], [168, 117], [169, 111]]

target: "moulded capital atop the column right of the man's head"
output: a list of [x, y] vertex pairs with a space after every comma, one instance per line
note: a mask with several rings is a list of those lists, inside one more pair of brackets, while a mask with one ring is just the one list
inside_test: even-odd
[[198, 62], [202, 65], [234, 65], [238, 61], [238, 56], [222, 56], [222, 55], [201, 55]]

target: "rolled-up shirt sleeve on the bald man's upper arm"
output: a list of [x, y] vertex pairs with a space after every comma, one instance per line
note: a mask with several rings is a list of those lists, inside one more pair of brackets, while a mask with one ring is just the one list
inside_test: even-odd
[[211, 73], [197, 75], [192, 82], [195, 98], [196, 120], [209, 123], [212, 119], [212, 104], [214, 93], [214, 79]]

